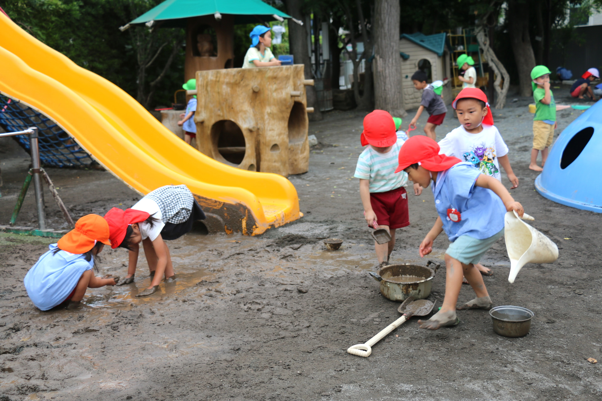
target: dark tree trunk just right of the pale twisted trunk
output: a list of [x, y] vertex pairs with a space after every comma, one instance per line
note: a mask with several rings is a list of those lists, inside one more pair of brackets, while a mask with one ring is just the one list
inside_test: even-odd
[[535, 67], [535, 54], [529, 37], [529, 5], [523, 1], [509, 1], [508, 23], [518, 69], [519, 93], [521, 96], [531, 96], [531, 70]]

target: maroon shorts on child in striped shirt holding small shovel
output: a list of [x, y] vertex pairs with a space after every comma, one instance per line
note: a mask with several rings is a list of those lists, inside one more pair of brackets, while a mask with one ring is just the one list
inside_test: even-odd
[[410, 225], [408, 194], [403, 186], [387, 192], [370, 192], [370, 204], [379, 225], [388, 225], [389, 228]]

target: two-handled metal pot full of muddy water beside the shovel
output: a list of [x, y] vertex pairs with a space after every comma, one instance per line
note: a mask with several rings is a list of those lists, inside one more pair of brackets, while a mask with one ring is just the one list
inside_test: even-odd
[[435, 269], [429, 268], [435, 262], [429, 260], [426, 266], [411, 265], [388, 265], [379, 269], [377, 273], [370, 272], [374, 280], [380, 283], [380, 293], [391, 301], [402, 302], [409, 296], [415, 299], [424, 299], [430, 295], [432, 280], [437, 269], [441, 265], [435, 265]]

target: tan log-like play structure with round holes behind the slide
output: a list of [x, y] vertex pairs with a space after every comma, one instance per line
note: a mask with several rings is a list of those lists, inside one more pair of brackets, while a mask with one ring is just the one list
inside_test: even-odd
[[303, 65], [197, 71], [197, 148], [222, 163], [288, 177], [308, 171]]

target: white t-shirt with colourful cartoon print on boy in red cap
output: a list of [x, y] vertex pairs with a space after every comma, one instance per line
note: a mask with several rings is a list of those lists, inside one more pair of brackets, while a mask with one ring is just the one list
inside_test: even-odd
[[470, 133], [459, 126], [439, 141], [439, 154], [455, 156], [463, 162], [470, 162], [481, 173], [501, 181], [500, 165], [497, 158], [508, 154], [508, 147], [494, 125], [483, 124], [479, 133]]

